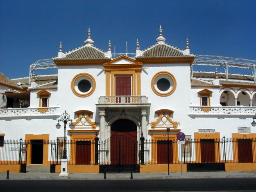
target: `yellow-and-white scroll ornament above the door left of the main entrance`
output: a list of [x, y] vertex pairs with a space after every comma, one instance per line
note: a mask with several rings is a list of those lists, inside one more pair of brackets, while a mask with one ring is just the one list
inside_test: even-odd
[[93, 114], [92, 111], [80, 110], [76, 111], [75, 115], [78, 116], [77, 120], [73, 122], [74, 128], [78, 129], [95, 129], [97, 124], [92, 122], [90, 116]]

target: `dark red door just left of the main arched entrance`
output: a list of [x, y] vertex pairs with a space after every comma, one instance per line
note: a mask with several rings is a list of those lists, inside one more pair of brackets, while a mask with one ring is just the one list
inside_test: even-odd
[[77, 165], [91, 164], [91, 141], [76, 141], [75, 163]]

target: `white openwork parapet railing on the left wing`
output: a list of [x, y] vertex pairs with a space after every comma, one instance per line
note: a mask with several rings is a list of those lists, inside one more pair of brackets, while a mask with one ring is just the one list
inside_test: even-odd
[[4, 108], [0, 109], [0, 117], [58, 115], [58, 109], [59, 107]]

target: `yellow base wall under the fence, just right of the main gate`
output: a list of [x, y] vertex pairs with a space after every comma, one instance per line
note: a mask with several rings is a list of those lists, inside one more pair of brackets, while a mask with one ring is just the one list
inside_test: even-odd
[[[168, 172], [168, 165], [140, 165], [140, 173]], [[170, 172], [181, 172], [181, 164], [171, 164]], [[187, 165], [182, 164], [182, 172], [187, 172]]]

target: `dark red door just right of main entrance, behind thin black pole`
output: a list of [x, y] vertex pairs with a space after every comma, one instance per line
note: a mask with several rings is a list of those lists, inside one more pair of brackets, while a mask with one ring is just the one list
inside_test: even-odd
[[[157, 163], [168, 163], [168, 141], [157, 141]], [[169, 163], [172, 163], [172, 141], [169, 141]]]

